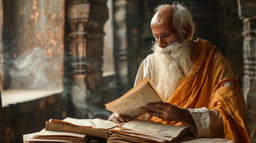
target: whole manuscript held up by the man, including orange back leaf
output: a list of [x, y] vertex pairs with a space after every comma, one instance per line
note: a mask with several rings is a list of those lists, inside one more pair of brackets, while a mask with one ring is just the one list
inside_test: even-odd
[[163, 101], [150, 80], [145, 78], [122, 97], [105, 104], [105, 106], [107, 110], [135, 119], [146, 114], [146, 112], [142, 112], [139, 108], [146, 107], [148, 103]]

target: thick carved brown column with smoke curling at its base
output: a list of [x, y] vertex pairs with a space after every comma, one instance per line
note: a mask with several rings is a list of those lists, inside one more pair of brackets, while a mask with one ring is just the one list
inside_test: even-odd
[[[103, 26], [108, 19], [106, 0], [69, 0], [67, 21], [67, 51], [70, 53], [72, 101], [84, 113], [83, 117], [94, 118], [89, 104], [102, 106], [100, 86], [102, 79]], [[87, 100], [87, 101], [86, 101]]]

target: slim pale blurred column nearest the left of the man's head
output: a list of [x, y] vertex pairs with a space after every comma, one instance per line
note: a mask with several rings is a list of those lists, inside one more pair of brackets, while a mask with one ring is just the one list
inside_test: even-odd
[[128, 88], [127, 0], [113, 0], [114, 60], [119, 94]]

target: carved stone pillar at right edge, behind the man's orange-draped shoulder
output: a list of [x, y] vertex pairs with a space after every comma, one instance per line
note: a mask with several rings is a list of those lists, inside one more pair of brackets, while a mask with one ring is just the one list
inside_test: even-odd
[[243, 22], [244, 77], [243, 95], [252, 143], [256, 143], [256, 0], [237, 0]]

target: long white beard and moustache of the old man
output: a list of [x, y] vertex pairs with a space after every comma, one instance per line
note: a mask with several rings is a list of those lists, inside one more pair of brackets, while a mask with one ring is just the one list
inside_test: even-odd
[[174, 42], [164, 48], [155, 42], [152, 50], [156, 88], [167, 101], [193, 66], [191, 41]]

